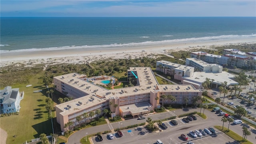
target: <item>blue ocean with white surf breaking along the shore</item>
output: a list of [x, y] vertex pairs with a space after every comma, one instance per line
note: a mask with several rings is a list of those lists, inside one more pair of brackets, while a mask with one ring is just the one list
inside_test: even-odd
[[256, 39], [256, 17], [1, 17], [0, 52]]

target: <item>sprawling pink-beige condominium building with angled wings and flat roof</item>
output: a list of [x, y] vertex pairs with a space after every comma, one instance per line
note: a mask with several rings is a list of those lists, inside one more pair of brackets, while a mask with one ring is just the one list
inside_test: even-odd
[[[90, 114], [105, 108], [110, 108], [112, 116], [132, 115], [140, 116], [160, 107], [160, 103], [192, 104], [192, 99], [202, 96], [202, 91], [197, 90], [191, 84], [187, 85], [159, 85], [151, 68], [131, 67], [128, 70], [128, 79], [136, 79], [137, 85], [119, 89], [105, 89], [88, 81], [83, 74], [66, 74], [54, 77], [56, 90], [66, 96], [74, 98], [69, 102], [56, 105], [56, 118], [61, 130], [65, 131], [64, 124], [72, 122], [72, 127], [78, 125], [77, 116], [81, 116], [80, 123], [90, 120], [84, 117], [84, 113]], [[162, 99], [162, 95], [172, 95], [176, 101]], [[92, 118], [96, 117], [94, 114]], [[67, 127], [69, 129], [69, 127]]]

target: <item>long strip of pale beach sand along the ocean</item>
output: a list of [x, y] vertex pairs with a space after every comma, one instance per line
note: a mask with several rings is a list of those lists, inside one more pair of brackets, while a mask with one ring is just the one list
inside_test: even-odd
[[[167, 54], [171, 51], [190, 51], [193, 49], [210, 49], [212, 46], [223, 46], [231, 44], [254, 44], [255, 38], [239, 39], [239, 40], [223, 40], [209, 42], [188, 42], [188, 43], [161, 43], [155, 45], [141, 45], [134, 47], [115, 47], [104, 49], [65, 49], [65, 50], [38, 50], [38, 51], [21, 51], [21, 52], [6, 52], [0, 55], [0, 67], [9, 66], [12, 64], [25, 64], [33, 66], [36, 64], [85, 64], [88, 60], [107, 59], [123, 59], [123, 58], [140, 58], [148, 56], [156, 58], [156, 54]], [[230, 47], [231, 48], [231, 47]]]

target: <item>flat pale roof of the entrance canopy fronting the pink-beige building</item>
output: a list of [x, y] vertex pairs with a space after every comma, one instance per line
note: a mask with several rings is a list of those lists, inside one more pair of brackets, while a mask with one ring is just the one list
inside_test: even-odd
[[131, 112], [131, 114], [138, 114], [141, 113], [144, 114], [150, 110], [152, 110], [152, 105], [148, 102], [142, 102], [137, 104], [129, 104], [126, 106], [120, 106], [120, 109], [122, 112]]

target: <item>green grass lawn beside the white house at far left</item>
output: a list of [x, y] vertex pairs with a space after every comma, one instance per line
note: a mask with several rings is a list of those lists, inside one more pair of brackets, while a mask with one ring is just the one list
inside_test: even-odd
[[[44, 71], [31, 78], [29, 84], [32, 86], [30, 87], [26, 87], [28, 84], [12, 86], [12, 88], [20, 88], [20, 92], [24, 91], [24, 98], [20, 102], [19, 115], [0, 118], [1, 128], [8, 134], [7, 144], [21, 144], [26, 140], [29, 142], [31, 139], [38, 138], [42, 133], [47, 135], [52, 133], [52, 123], [48, 120], [48, 111], [45, 108], [47, 90], [45, 86], [38, 84], [43, 74]], [[43, 91], [33, 93], [34, 90]], [[16, 135], [15, 138], [14, 135]]]

